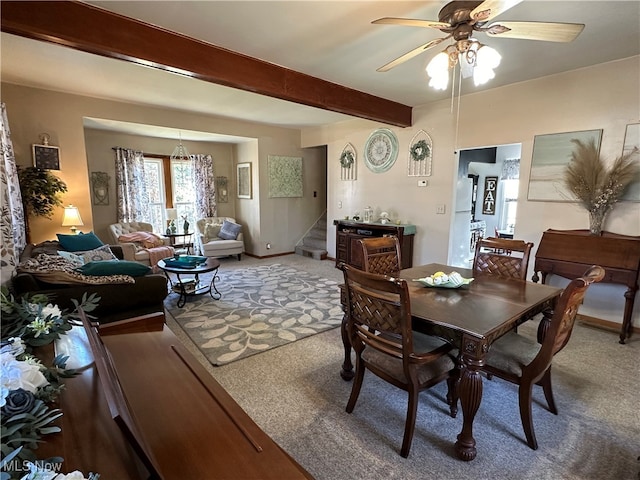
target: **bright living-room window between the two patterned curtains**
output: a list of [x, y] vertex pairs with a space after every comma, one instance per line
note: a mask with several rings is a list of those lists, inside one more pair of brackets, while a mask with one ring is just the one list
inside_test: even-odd
[[170, 160], [168, 157], [145, 157], [145, 183], [149, 195], [149, 210], [146, 218], [154, 232], [167, 229], [166, 209], [178, 211], [176, 226], [182, 231], [182, 217], [193, 226], [195, 223], [196, 194], [193, 186], [193, 162]]

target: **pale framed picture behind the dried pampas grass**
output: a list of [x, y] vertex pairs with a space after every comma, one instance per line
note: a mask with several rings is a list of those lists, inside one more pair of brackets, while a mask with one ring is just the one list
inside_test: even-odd
[[576, 139], [581, 142], [595, 140], [600, 150], [602, 130], [583, 130], [580, 132], [552, 133], [536, 135], [533, 139], [531, 175], [527, 199], [540, 202], [576, 202], [565, 188], [563, 176], [571, 161], [571, 153]]

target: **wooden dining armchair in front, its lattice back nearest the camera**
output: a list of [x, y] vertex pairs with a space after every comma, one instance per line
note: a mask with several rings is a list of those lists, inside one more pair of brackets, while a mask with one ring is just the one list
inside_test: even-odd
[[418, 394], [448, 381], [447, 403], [456, 415], [458, 369], [452, 346], [411, 330], [407, 282], [342, 265], [346, 288], [347, 332], [356, 354], [356, 372], [346, 411], [353, 412], [365, 370], [408, 393], [400, 455], [407, 457], [416, 423]]

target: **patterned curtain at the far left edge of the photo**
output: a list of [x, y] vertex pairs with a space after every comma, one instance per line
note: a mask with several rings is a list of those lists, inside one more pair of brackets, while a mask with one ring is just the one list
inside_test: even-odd
[[18, 183], [18, 170], [11, 143], [11, 131], [7, 118], [7, 107], [0, 104], [0, 259], [2, 282], [11, 278], [20, 259], [20, 253], [27, 245], [22, 196]]

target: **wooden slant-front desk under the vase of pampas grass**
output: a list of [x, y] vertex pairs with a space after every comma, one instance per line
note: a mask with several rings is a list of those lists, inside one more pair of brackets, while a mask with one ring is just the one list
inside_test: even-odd
[[604, 267], [601, 283], [626, 285], [625, 305], [620, 329], [620, 343], [631, 335], [633, 303], [640, 277], [640, 237], [602, 232], [590, 235], [588, 230], [552, 230], [542, 234], [536, 252], [532, 280], [542, 274], [545, 283], [548, 274], [564, 278], [577, 278], [591, 265]]

